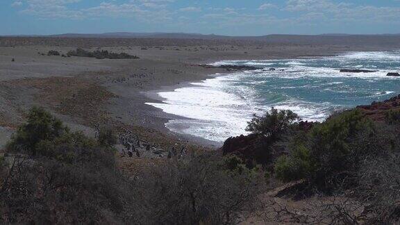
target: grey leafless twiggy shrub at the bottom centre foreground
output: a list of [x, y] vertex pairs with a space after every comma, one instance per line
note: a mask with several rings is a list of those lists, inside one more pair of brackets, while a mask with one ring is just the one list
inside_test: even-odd
[[[258, 203], [260, 174], [230, 171], [208, 154], [172, 160], [138, 176], [139, 224], [233, 224]], [[138, 216], [139, 215], [139, 216]]]

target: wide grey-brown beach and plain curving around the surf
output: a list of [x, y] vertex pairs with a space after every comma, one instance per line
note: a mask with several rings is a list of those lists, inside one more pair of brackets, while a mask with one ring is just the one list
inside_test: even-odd
[[[56, 43], [56, 44], [55, 44]], [[93, 135], [107, 124], [129, 128], [154, 144], [185, 143], [210, 149], [217, 143], [179, 135], [165, 128], [167, 115], [147, 102], [159, 102], [157, 92], [201, 81], [225, 69], [200, 64], [219, 60], [280, 59], [334, 56], [348, 51], [399, 49], [375, 44], [303, 44], [240, 40], [124, 40], [74, 38], [0, 38], [0, 145], [24, 121], [31, 106], [43, 106], [74, 130]], [[379, 44], [382, 43], [382, 44]], [[140, 59], [47, 56], [50, 50], [66, 54], [76, 48], [125, 52]], [[12, 60], [14, 59], [14, 60]]]

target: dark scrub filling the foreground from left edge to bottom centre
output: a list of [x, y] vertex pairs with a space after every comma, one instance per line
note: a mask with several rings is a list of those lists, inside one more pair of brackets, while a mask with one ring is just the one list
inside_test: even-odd
[[1, 224], [231, 224], [258, 203], [263, 173], [240, 160], [192, 153], [132, 176], [115, 143], [32, 108], [0, 158]]

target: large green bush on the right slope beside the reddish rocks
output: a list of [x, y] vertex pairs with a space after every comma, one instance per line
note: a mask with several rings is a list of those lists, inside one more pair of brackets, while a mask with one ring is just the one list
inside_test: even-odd
[[333, 184], [358, 165], [371, 135], [374, 124], [360, 110], [335, 115], [290, 145], [289, 155], [276, 161], [276, 176], [283, 181], [310, 178], [322, 187]]

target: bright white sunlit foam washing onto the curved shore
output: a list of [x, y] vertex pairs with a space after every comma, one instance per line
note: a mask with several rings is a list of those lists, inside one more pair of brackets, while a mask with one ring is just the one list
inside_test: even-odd
[[[224, 141], [232, 135], [244, 133], [254, 106], [238, 94], [219, 90], [230, 80], [229, 76], [207, 79], [195, 86], [178, 88], [173, 92], [160, 92], [163, 103], [147, 103], [165, 113], [194, 120], [178, 119], [166, 124], [178, 133], [190, 133], [208, 140]], [[176, 124], [186, 124], [177, 126]], [[190, 124], [192, 126], [190, 126]]]

